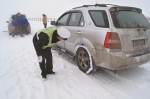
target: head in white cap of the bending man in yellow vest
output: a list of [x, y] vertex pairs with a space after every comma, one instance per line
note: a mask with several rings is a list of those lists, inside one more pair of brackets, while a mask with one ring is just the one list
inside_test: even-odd
[[58, 33], [57, 38], [60, 41], [67, 40], [70, 37], [70, 32], [66, 28], [63, 28], [63, 27], [58, 28], [57, 33]]

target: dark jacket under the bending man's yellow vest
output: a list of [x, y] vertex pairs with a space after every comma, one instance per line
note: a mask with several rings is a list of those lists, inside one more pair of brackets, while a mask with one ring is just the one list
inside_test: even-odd
[[[59, 39], [57, 39], [58, 33], [57, 30], [54, 31], [52, 36], [52, 43], [57, 43]], [[43, 46], [46, 46], [49, 43], [49, 36], [46, 33], [41, 32], [39, 35], [39, 40], [37, 40], [37, 33], [33, 37], [33, 44], [37, 55], [40, 56], [43, 54], [44, 50], [50, 50], [50, 48], [42, 49]]]

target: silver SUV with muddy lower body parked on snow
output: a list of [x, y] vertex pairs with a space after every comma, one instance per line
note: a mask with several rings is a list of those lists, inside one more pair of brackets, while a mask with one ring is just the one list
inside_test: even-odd
[[70, 31], [57, 46], [73, 54], [85, 73], [97, 66], [120, 70], [150, 61], [150, 23], [140, 8], [84, 5], [66, 11], [51, 25]]

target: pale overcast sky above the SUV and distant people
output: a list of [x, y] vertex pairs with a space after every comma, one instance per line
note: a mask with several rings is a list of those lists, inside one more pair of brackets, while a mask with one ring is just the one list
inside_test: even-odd
[[58, 18], [66, 10], [82, 5], [116, 4], [139, 7], [145, 16], [150, 17], [149, 0], [0, 0], [0, 17], [9, 18], [17, 12], [27, 17], [42, 17], [44, 13], [49, 18]]

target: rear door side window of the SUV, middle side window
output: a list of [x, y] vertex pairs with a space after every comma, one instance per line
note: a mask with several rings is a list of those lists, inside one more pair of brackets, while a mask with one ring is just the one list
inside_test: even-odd
[[73, 12], [69, 20], [69, 26], [79, 26], [81, 17], [82, 14], [80, 12]]

